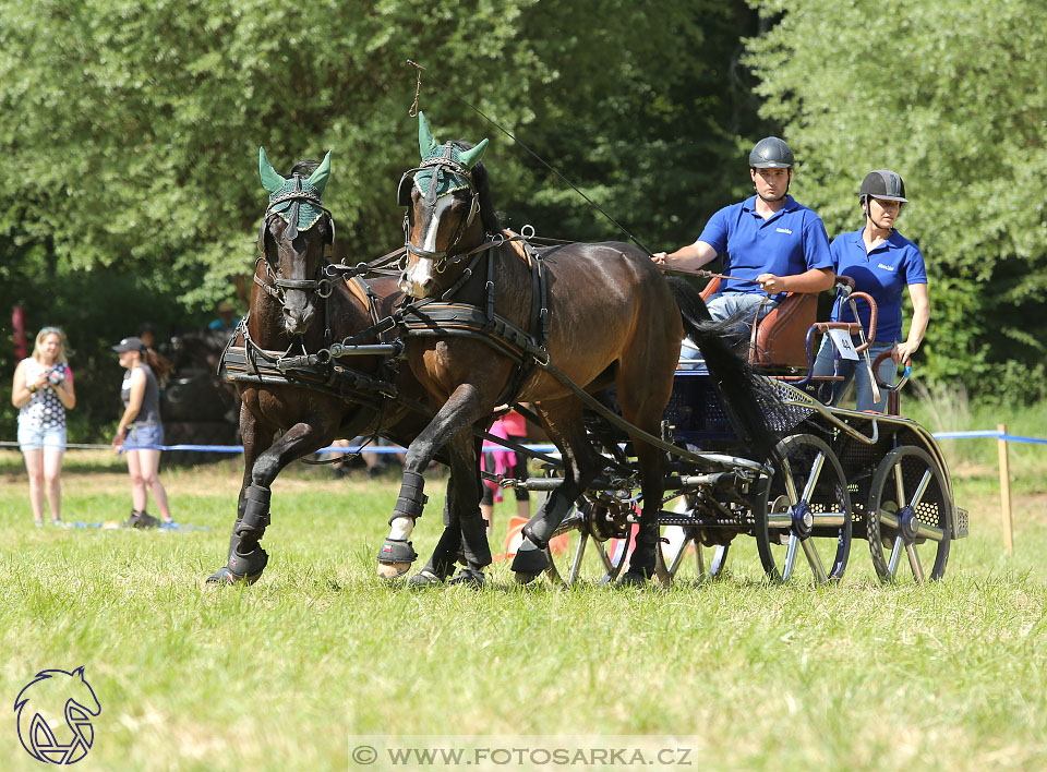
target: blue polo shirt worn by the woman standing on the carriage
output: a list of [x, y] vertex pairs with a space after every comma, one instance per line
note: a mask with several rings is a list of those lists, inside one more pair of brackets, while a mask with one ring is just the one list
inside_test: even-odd
[[[902, 290], [908, 285], [926, 285], [927, 270], [919, 248], [896, 230], [866, 254], [864, 228], [841, 233], [832, 240], [830, 252], [837, 274], [854, 279], [854, 288], [872, 295], [877, 307], [876, 339], [881, 343], [902, 340]], [[858, 300], [858, 316], [868, 329], [869, 306]], [[833, 322], [854, 322], [851, 304], [837, 302]]]

